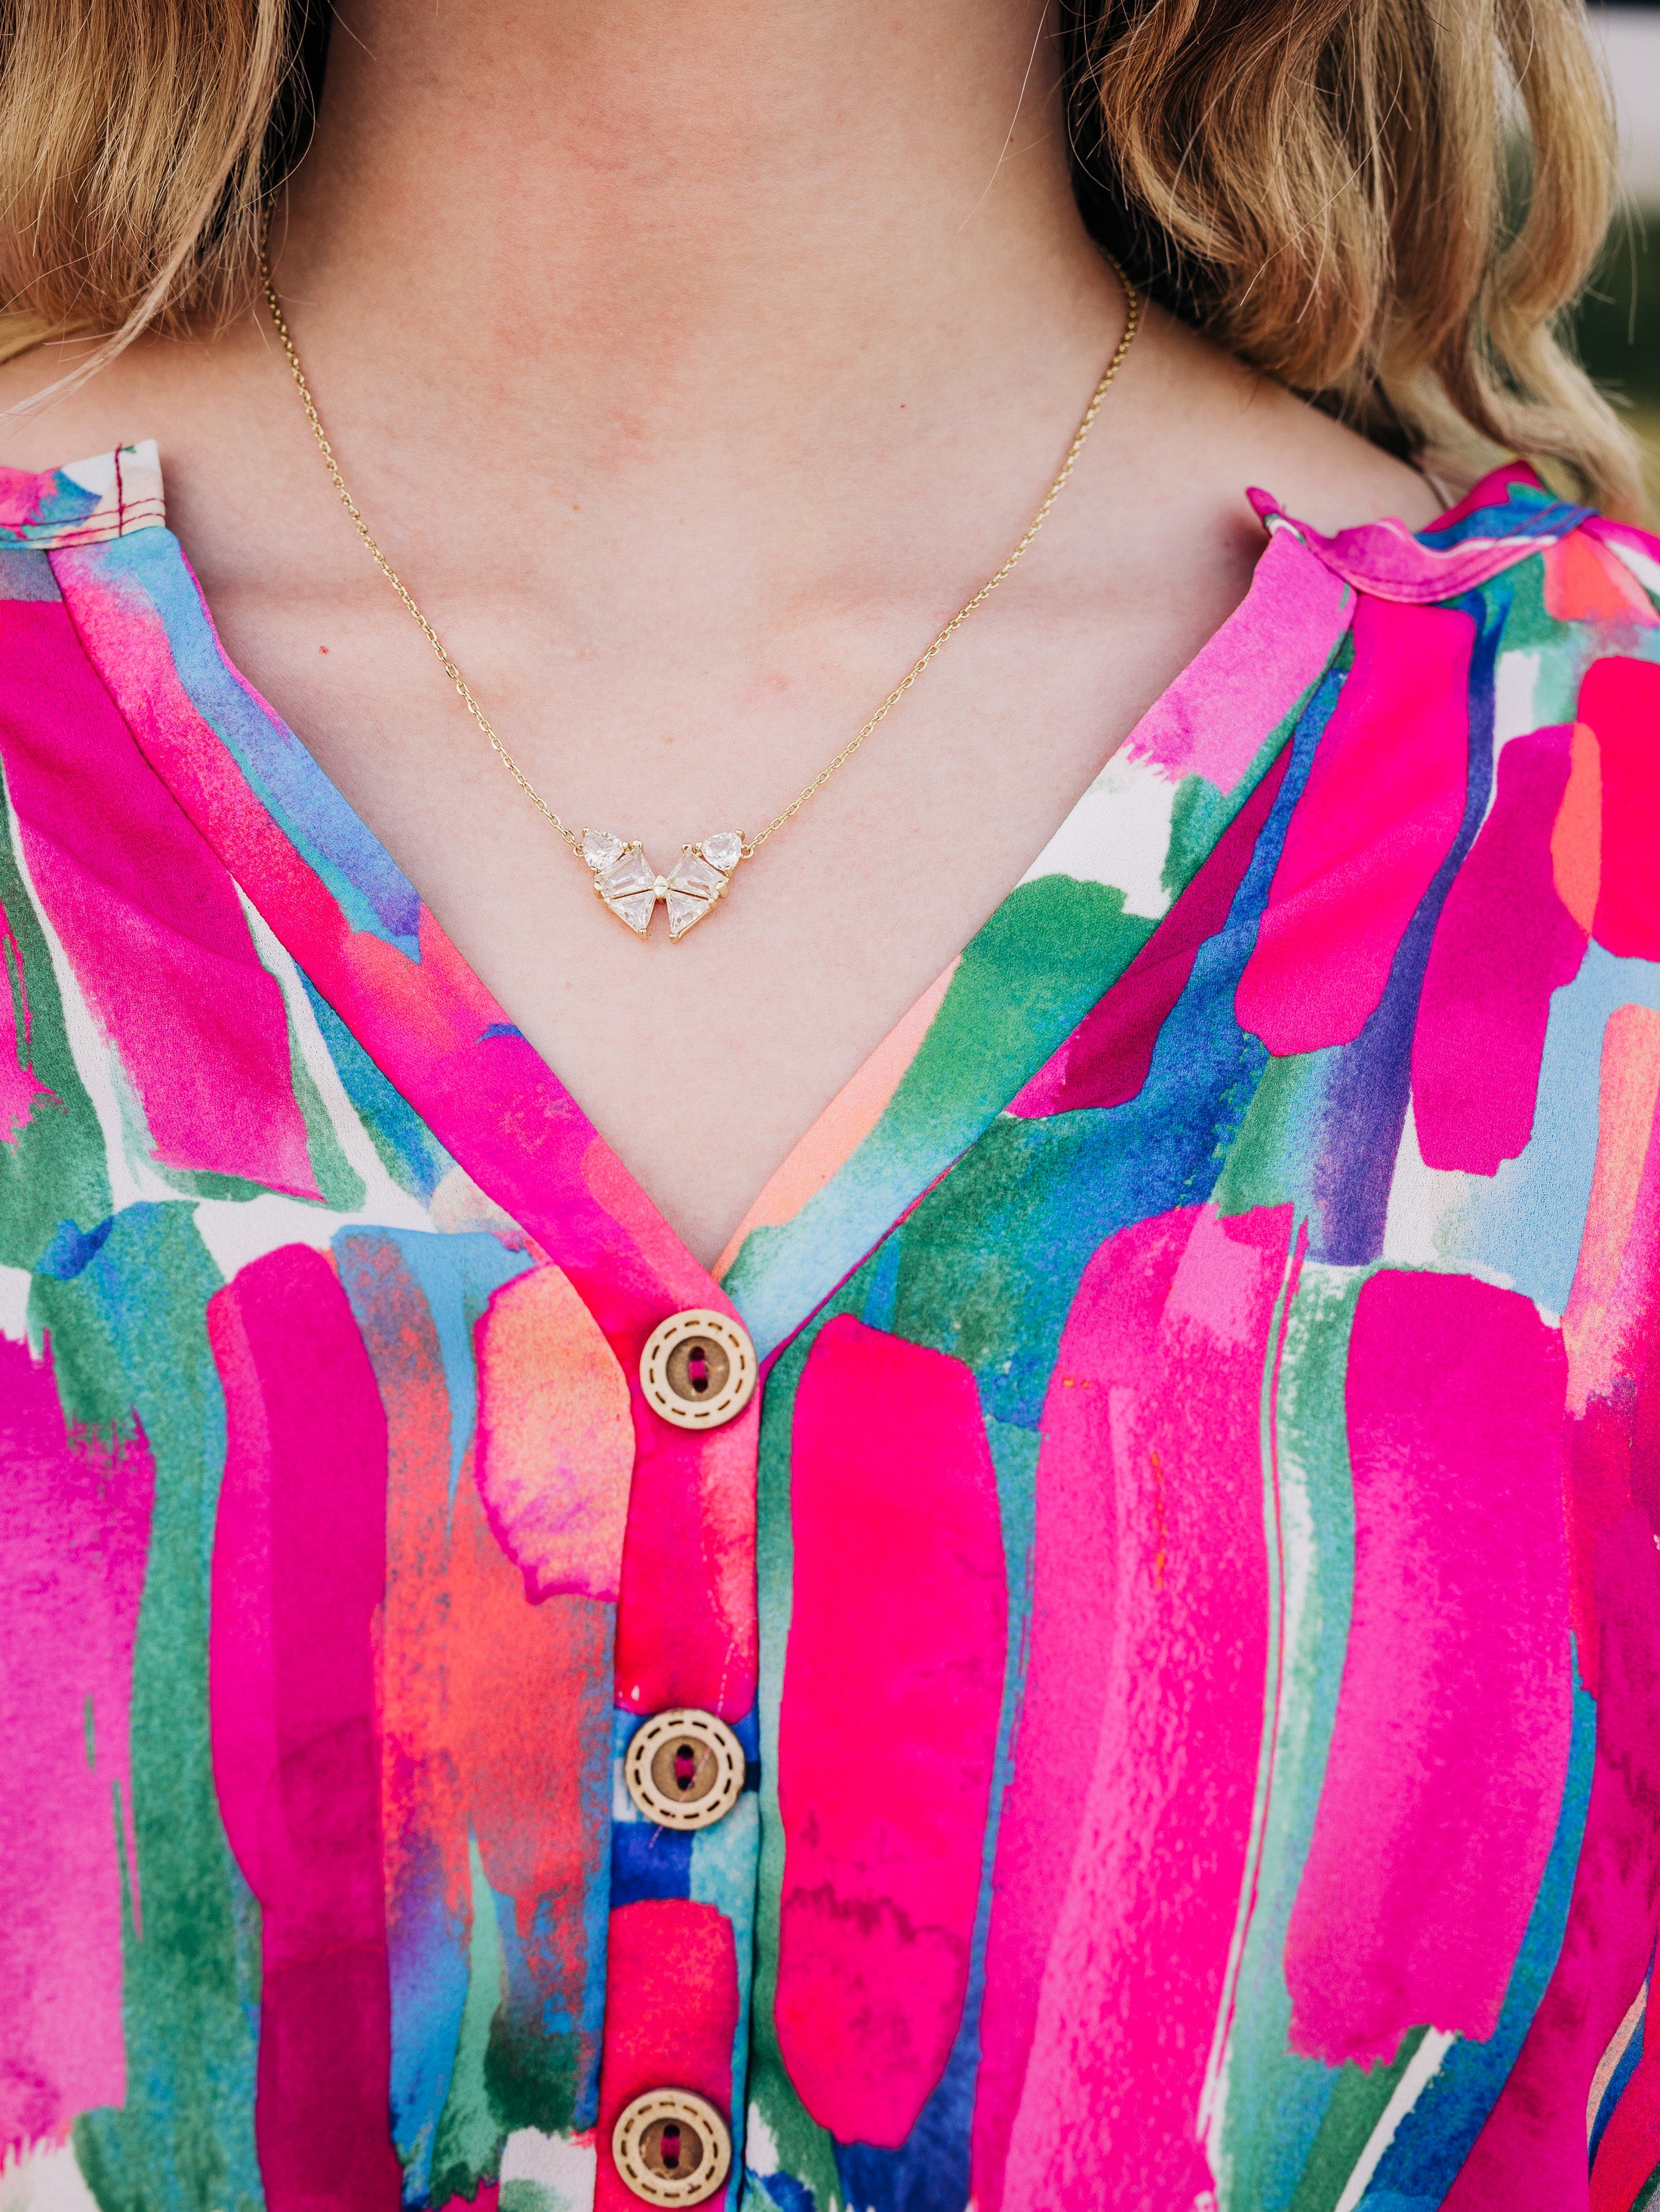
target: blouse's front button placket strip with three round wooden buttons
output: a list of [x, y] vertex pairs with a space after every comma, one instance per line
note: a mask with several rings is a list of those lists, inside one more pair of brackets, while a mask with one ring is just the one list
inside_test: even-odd
[[[760, 1363], [729, 1310], [685, 1307], [648, 1327], [617, 1615], [630, 1725], [612, 1770], [597, 2212], [718, 2199], [740, 2163], [745, 2099]], [[696, 2099], [696, 2112], [656, 2099]]]

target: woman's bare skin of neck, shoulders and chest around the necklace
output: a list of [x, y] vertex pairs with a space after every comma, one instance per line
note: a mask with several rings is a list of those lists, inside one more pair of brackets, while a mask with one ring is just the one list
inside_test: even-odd
[[[1019, 538], [1125, 319], [1030, 0], [349, 0], [276, 281], [371, 529], [577, 827], [754, 834]], [[80, 356], [0, 372], [0, 407]], [[155, 436], [232, 659], [701, 1259], [1242, 599], [1430, 487], [1149, 312], [1019, 571], [679, 945], [513, 787], [263, 310], [13, 416]]]

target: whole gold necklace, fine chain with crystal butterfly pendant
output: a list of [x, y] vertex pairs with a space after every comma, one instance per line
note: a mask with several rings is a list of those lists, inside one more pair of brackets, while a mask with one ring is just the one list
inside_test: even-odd
[[1101, 411], [1101, 400], [1107, 396], [1107, 385], [1123, 367], [1123, 358], [1130, 352], [1130, 345], [1136, 336], [1136, 327], [1141, 323], [1141, 299], [1136, 290], [1132, 288], [1130, 279], [1118, 268], [1118, 263], [1112, 259], [1112, 254], [1107, 254], [1105, 259], [1112, 265], [1125, 292], [1127, 314], [1125, 314], [1123, 338], [1118, 338], [1118, 345], [1112, 352], [1112, 361], [1107, 363], [1101, 383], [1094, 387], [1090, 405], [1083, 409], [1083, 420], [1079, 422], [1072, 445], [1065, 449], [1065, 460], [1061, 462], [1054, 482], [1043, 493], [1043, 504], [1026, 524], [1026, 533], [1021, 535], [1019, 544], [1008, 555], [1004, 566], [997, 568], [995, 575], [988, 575], [986, 582], [975, 593], [975, 597], [966, 599], [957, 608], [957, 613], [950, 617], [944, 630], [939, 630], [926, 646], [926, 650], [917, 655], [911, 668], [906, 668], [906, 672], [900, 677], [900, 681], [893, 686], [886, 699], [878, 706], [871, 719], [847, 741], [847, 745], [842, 745], [836, 759], [829, 761], [813, 776], [811, 783], [807, 783], [800, 792], [796, 792], [796, 796], [789, 801], [782, 814], [774, 814], [774, 818], [758, 836], [747, 838], [743, 830], [716, 830], [714, 836], [705, 836], [696, 845], [681, 845], [681, 858], [674, 863], [668, 876], [659, 876], [652, 863], [645, 858], [645, 847], [639, 843], [639, 838], [634, 841], [619, 838], [612, 836], [608, 830], [577, 832], [566, 821], [561, 821], [561, 816], [555, 814], [555, 810], [548, 805], [548, 801], [542, 796], [535, 783], [530, 783], [526, 772], [519, 768], [519, 763], [506, 750], [502, 739], [495, 734], [491, 717], [473, 697], [466, 677], [451, 659], [449, 648], [444, 646], [438, 630], [416, 606], [413, 593], [376, 544], [369, 524], [363, 520], [358, 502], [347, 491], [345, 478], [340, 476], [340, 462], [334, 458], [334, 447], [329, 445], [327, 431], [323, 429], [323, 418], [316, 411], [316, 400], [312, 398], [312, 387], [305, 380], [301, 356], [294, 349], [294, 338], [290, 334], [287, 319], [283, 314], [283, 303], [279, 301], [276, 285], [272, 283], [270, 219], [259, 241], [259, 276], [265, 288], [265, 305], [272, 312], [276, 336], [283, 341], [283, 352], [287, 354], [290, 374], [294, 376], [301, 400], [305, 405], [305, 418], [316, 436], [316, 449], [323, 456], [323, 465], [329, 471], [329, 478], [334, 480], [334, 489], [340, 493], [340, 504], [351, 515], [351, 524], [358, 538], [363, 540], [365, 549], [369, 551], [376, 568], [385, 575], [385, 580], [391, 584], [402, 604], [420, 624], [422, 637], [438, 655], [438, 664], [449, 677], [449, 681], [455, 686], [462, 706], [480, 726], [484, 737], [491, 741], [491, 750], [495, 752], [495, 757], [502, 761], [502, 765], [519, 785], [519, 790], [526, 794], [526, 799], [537, 807], [537, 812], [553, 823], [553, 827], [559, 832], [566, 845], [577, 854], [584, 867], [590, 869], [595, 880], [595, 891], [601, 898], [601, 902], [610, 907], [610, 911], [621, 922], [626, 922], [634, 931], [634, 936], [643, 938], [652, 925], [652, 914], [656, 911], [656, 905], [661, 900], [668, 907], [668, 933], [672, 940], [683, 938], [687, 929], [696, 927], [696, 922], [701, 922], [703, 916], [714, 909], [714, 902], [732, 883], [732, 874], [738, 867], [738, 863], [754, 860], [754, 856], [760, 852], [760, 847], [767, 843], [774, 830], [782, 830], [787, 821], [794, 821], [796, 814], [800, 814], [800, 810], [807, 805], [807, 801], [816, 792], [824, 790], [836, 770], [844, 768], [853, 759], [864, 739], [878, 728], [878, 723], [886, 721], [886, 717], [893, 712], [900, 699], [904, 699], [904, 695], [917, 681], [917, 677], [935, 657], [935, 653], [939, 653], [946, 639], [955, 637], [955, 633], [964, 626], [964, 622], [968, 622], [973, 611], [981, 606], [997, 591], [997, 586], [1015, 566], [1015, 562], [1021, 557], [1021, 553], [1026, 553], [1030, 542], [1043, 529], [1050, 509], [1059, 500], [1061, 491], [1065, 489], [1065, 480], [1072, 476], [1072, 469], [1076, 467], [1079, 453], [1083, 451], [1083, 440], [1090, 436], [1094, 418]]

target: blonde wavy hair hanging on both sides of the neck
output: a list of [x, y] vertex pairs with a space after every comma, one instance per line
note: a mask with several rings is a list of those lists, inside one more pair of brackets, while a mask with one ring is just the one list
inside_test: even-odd
[[[1583, 0], [1061, 4], [1079, 199], [1154, 296], [1397, 451], [1501, 447], [1636, 509], [1563, 343], [1616, 195]], [[325, 11], [2, 0], [0, 358], [93, 332], [86, 374], [245, 307]]]

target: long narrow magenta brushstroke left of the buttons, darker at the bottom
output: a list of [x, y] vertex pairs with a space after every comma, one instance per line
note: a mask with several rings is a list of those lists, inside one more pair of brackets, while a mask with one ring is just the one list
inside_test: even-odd
[[214, 1783], [261, 1905], [254, 2139], [270, 2212], [398, 2212], [374, 1646], [387, 1418], [329, 1263], [285, 1245], [208, 1307], [225, 1391]]

